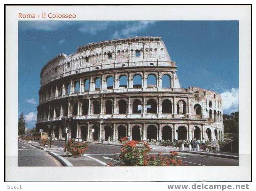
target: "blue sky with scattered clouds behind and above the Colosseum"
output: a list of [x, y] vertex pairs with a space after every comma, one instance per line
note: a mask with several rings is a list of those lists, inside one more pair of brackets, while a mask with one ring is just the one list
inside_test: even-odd
[[162, 37], [178, 66], [182, 88], [198, 86], [222, 94], [224, 114], [238, 110], [238, 21], [19, 21], [19, 108], [27, 126], [36, 123], [40, 70], [59, 53], [102, 40]]

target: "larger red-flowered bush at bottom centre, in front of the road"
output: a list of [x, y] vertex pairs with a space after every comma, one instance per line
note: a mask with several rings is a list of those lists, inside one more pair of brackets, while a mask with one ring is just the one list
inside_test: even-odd
[[139, 148], [138, 141], [128, 141], [128, 138], [121, 139], [122, 148], [120, 153], [121, 166], [179, 166], [180, 159], [176, 159], [177, 152], [170, 152], [168, 155], [149, 154], [151, 148], [148, 143], [143, 143]]

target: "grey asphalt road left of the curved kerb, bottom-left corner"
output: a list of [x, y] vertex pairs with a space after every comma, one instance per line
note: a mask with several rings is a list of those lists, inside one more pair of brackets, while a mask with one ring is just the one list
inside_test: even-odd
[[62, 166], [47, 152], [18, 141], [18, 166]]

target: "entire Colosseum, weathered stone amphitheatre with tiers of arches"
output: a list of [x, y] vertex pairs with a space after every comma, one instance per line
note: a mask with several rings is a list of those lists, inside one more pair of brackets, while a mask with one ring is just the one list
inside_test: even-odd
[[[182, 67], [182, 66], [181, 66]], [[89, 43], [57, 55], [40, 73], [37, 130], [87, 141], [223, 139], [221, 96], [181, 88], [177, 66], [160, 37]]]

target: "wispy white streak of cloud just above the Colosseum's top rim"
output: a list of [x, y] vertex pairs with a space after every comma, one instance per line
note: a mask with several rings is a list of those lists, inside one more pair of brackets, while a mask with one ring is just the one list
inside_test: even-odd
[[147, 29], [149, 25], [154, 24], [155, 21], [139, 21], [132, 24], [127, 24], [124, 29], [122, 29], [120, 32], [115, 31], [113, 34], [113, 38], [120, 38], [120, 37], [131, 37], [136, 36], [136, 33]]

